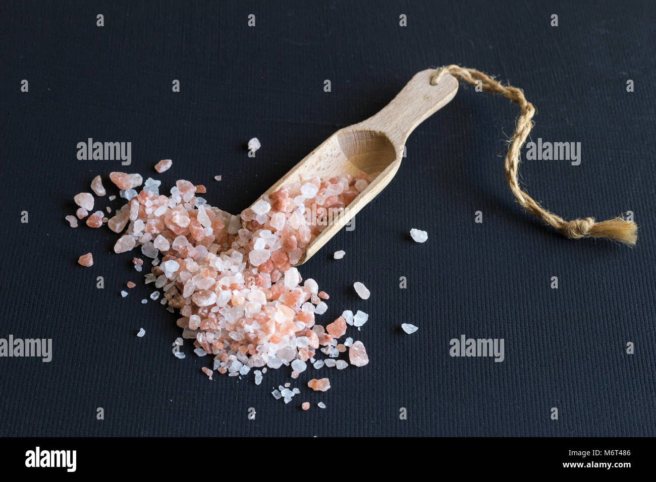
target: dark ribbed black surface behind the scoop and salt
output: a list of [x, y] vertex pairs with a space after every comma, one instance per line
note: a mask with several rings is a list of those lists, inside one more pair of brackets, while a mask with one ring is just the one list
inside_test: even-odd
[[[549, 4], [2, 2], [0, 337], [52, 338], [54, 355], [0, 359], [0, 434], [654, 435], [654, 3]], [[333, 388], [310, 393], [312, 368], [296, 381], [289, 369], [269, 371], [255, 386], [252, 374], [210, 382], [200, 371], [209, 357], [189, 342], [175, 359], [176, 316], [140, 303], [152, 285], [131, 268], [133, 254], [113, 254], [107, 228], [64, 221], [96, 174], [117, 194], [108, 174], [123, 170], [166, 191], [178, 178], [205, 184], [211, 205], [237, 213], [417, 71], [451, 63], [524, 89], [537, 107], [533, 140], [581, 142], [579, 166], [523, 163], [535, 199], [565, 218], [633, 211], [638, 245], [569, 241], [523, 212], [502, 161], [518, 110], [461, 86], [411, 135], [400, 171], [356, 229], [300, 270], [331, 294], [323, 322], [347, 308], [369, 313], [361, 332], [348, 332], [369, 365], [323, 368]], [[253, 136], [255, 159], [244, 147]], [[77, 142], [89, 137], [132, 142], [132, 165], [78, 161]], [[157, 175], [164, 158], [173, 168]], [[96, 198], [94, 210], [106, 205]], [[410, 228], [428, 231], [428, 242], [411, 241]], [[346, 257], [331, 260], [338, 249]], [[87, 251], [94, 266], [81, 268]], [[129, 280], [138, 284], [123, 299]], [[461, 334], [504, 338], [505, 361], [449, 357]], [[270, 395], [286, 381], [302, 390], [289, 405]]]

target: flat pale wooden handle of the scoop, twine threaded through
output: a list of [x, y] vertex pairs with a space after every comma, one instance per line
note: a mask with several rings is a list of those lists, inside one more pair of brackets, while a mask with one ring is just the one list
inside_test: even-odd
[[448, 104], [458, 92], [458, 80], [450, 74], [441, 75], [436, 85], [430, 85], [434, 73], [434, 69], [428, 69], [415, 74], [392, 102], [355, 127], [383, 132], [397, 151], [402, 150], [415, 127]]

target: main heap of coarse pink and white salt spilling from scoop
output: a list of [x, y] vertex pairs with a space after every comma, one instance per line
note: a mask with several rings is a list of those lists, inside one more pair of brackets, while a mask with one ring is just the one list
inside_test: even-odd
[[328, 296], [291, 266], [325, 228], [306, 213], [321, 218], [343, 208], [368, 183], [364, 172], [313, 178], [262, 195], [234, 216], [198, 197], [203, 186], [178, 180], [167, 196], [148, 179], [108, 226], [125, 229], [115, 252], [141, 245], [152, 264], [163, 255], [146, 283], [155, 281], [162, 303], [180, 310], [183, 338], [194, 339], [197, 354], [214, 355], [215, 370], [237, 376], [291, 364], [296, 378], [319, 346], [332, 349], [345, 331], [315, 325]]

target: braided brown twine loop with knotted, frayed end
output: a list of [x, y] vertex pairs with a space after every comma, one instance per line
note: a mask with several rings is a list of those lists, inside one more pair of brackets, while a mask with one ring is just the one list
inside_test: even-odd
[[520, 151], [524, 142], [526, 142], [529, 132], [531, 132], [531, 127], [533, 127], [533, 121], [531, 119], [535, 115], [535, 108], [531, 102], [526, 100], [522, 89], [512, 87], [512, 85], [502, 85], [481, 71], [456, 65], [444, 66], [436, 70], [430, 79], [431, 85], [436, 85], [441, 75], [447, 72], [463, 82], [472, 85], [480, 83], [485, 92], [501, 94], [520, 107], [520, 117], [517, 119], [517, 127], [512, 134], [508, 153], [506, 154], [505, 169], [508, 187], [510, 187], [510, 191], [512, 191], [515, 199], [525, 211], [542, 218], [546, 224], [560, 231], [562, 235], [569, 239], [607, 237], [630, 246], [636, 244], [638, 226], [632, 221], [627, 221], [621, 216], [602, 222], [596, 222], [594, 218], [579, 218], [566, 221], [557, 214], [541, 207], [537, 201], [525, 191], [522, 191], [517, 179], [520, 167]]

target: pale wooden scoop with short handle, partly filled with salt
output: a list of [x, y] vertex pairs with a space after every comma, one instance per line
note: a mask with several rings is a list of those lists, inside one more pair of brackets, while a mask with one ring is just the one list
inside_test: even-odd
[[344, 174], [380, 172], [359, 193], [343, 214], [319, 233], [308, 245], [298, 266], [303, 264], [342, 229], [360, 209], [387, 186], [403, 159], [403, 146], [410, 133], [424, 119], [445, 106], [458, 91], [458, 81], [449, 74], [441, 75], [436, 85], [430, 85], [434, 70], [422, 70], [379, 113], [358, 124], [344, 127], [310, 152], [291, 171], [282, 176], [265, 194], [271, 194], [287, 184]]

